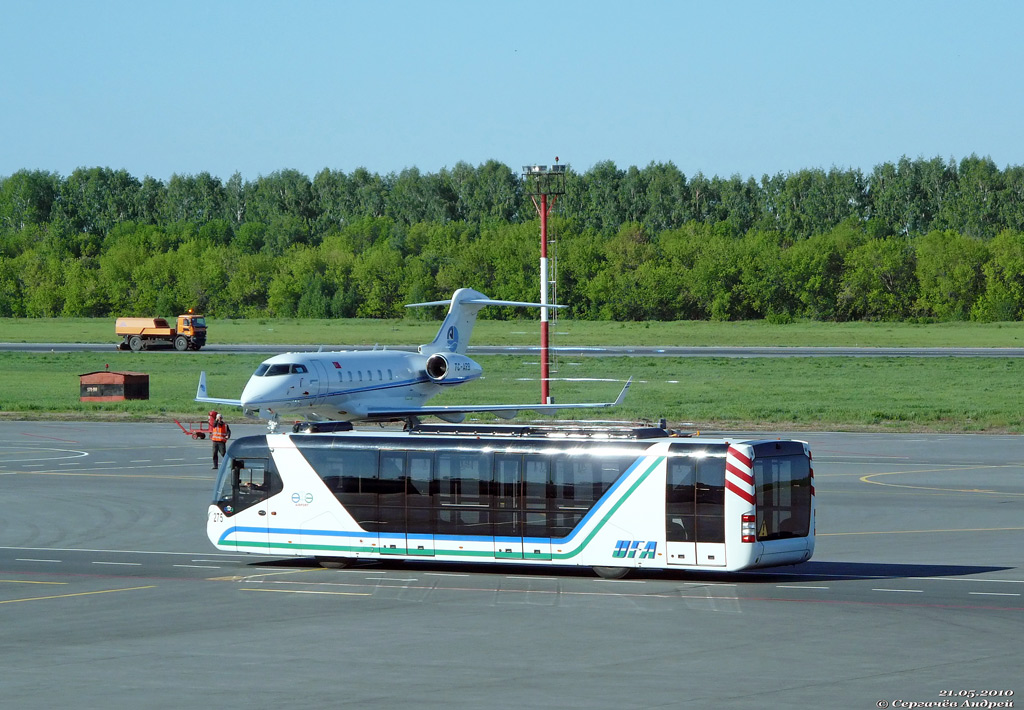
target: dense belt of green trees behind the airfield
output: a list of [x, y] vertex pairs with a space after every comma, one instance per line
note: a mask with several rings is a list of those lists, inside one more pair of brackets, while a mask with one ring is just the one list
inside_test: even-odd
[[[529, 190], [497, 161], [226, 182], [23, 170], [0, 178], [0, 316], [390, 318], [463, 286], [536, 298]], [[608, 161], [566, 171], [550, 236], [571, 318], [1024, 317], [1024, 168], [988, 158], [760, 181]]]

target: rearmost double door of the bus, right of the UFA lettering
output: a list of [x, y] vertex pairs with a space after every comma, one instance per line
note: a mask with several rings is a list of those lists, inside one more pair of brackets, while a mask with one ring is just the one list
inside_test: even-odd
[[670, 457], [665, 513], [669, 565], [725, 567], [725, 457]]

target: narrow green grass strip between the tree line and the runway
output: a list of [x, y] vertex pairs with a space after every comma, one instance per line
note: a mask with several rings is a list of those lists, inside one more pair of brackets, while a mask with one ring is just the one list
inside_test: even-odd
[[[438, 321], [211, 320], [211, 343], [297, 345], [418, 345], [429, 342]], [[778, 345], [863, 347], [1021, 347], [1024, 323], [818, 323], [765, 321], [718, 323], [552, 323], [553, 345]], [[0, 342], [118, 342], [114, 319], [0, 319]], [[536, 319], [477, 321], [477, 345], [536, 345]]]

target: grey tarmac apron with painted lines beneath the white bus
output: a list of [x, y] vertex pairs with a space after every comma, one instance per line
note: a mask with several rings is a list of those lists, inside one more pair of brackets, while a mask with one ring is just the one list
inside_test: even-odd
[[205, 534], [208, 442], [173, 423], [0, 422], [0, 702], [876, 708], [967, 707], [970, 692], [972, 702], [1015, 701], [1024, 437], [797, 437], [814, 454], [812, 560], [611, 581], [589, 570], [324, 570], [220, 553]]

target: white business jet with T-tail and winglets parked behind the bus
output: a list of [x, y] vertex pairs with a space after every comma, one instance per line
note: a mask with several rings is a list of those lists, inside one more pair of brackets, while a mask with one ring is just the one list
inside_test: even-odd
[[268, 420], [271, 430], [281, 417], [310, 421], [407, 421], [432, 415], [460, 422], [471, 412], [492, 412], [511, 419], [521, 410], [556, 412], [614, 407], [622, 404], [632, 378], [614, 402], [561, 405], [466, 405], [426, 407], [446, 387], [477, 379], [483, 369], [466, 357], [476, 315], [485, 305], [563, 307], [545, 303], [499, 301], [479, 291], [459, 289], [451, 301], [411, 303], [407, 307], [444, 305], [447, 316], [437, 336], [416, 352], [342, 350], [288, 352], [264, 361], [239, 400], [207, 395], [206, 372], [200, 373], [197, 402], [241, 407], [246, 416]]

